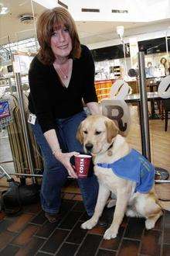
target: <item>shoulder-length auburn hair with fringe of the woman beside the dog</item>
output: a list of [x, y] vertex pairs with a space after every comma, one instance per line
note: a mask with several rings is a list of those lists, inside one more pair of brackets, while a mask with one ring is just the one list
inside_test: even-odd
[[48, 9], [42, 12], [37, 22], [37, 37], [39, 41], [38, 58], [43, 64], [53, 64], [55, 56], [50, 46], [53, 30], [57, 26], [65, 26], [69, 30], [72, 40], [71, 58], [80, 58], [80, 39], [76, 31], [75, 22], [70, 13], [61, 7]]

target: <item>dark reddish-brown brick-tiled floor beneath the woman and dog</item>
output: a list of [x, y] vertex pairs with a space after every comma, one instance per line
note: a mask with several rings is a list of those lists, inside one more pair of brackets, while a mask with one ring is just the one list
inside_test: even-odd
[[[114, 209], [105, 209], [110, 223]], [[0, 255], [58, 255], [58, 256], [169, 256], [170, 213], [153, 230], [145, 230], [145, 220], [124, 217], [116, 239], [103, 240], [106, 228], [82, 230], [87, 220], [81, 196], [65, 192], [61, 207], [62, 219], [49, 223], [39, 203], [25, 206], [19, 216], [0, 213]]]

